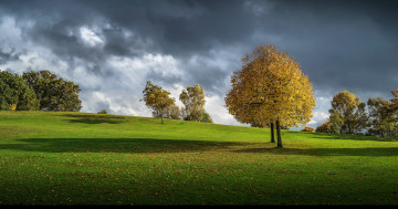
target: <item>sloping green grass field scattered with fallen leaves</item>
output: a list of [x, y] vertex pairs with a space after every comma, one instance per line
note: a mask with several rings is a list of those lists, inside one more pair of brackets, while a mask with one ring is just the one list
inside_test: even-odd
[[398, 205], [398, 142], [0, 112], [0, 205]]

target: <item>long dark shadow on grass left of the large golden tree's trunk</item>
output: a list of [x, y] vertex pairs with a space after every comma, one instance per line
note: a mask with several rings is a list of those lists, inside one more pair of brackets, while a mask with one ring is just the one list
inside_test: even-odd
[[190, 153], [226, 149], [248, 143], [154, 138], [27, 138], [0, 149], [46, 153]]

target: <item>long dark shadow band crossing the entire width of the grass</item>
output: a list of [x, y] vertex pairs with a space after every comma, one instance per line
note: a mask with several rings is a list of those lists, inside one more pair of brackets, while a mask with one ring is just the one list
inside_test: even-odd
[[[25, 138], [0, 144], [0, 149], [44, 153], [195, 153], [231, 151], [307, 156], [398, 156], [398, 147], [284, 148], [271, 143], [234, 143], [154, 138]], [[265, 146], [265, 147], [264, 147]]]

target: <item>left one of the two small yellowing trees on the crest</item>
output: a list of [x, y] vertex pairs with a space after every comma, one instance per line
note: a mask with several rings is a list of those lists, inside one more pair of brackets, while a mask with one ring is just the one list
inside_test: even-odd
[[168, 109], [175, 106], [175, 100], [169, 97], [170, 93], [154, 85], [150, 81], [147, 82], [143, 93], [143, 101], [146, 106], [151, 108], [161, 118], [161, 124], [164, 124]]

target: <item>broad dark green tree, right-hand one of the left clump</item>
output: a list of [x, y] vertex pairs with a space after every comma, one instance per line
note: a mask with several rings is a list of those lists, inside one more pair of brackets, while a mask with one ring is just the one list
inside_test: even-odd
[[41, 111], [80, 112], [82, 108], [77, 84], [57, 79], [50, 71], [31, 71], [23, 73], [22, 77], [35, 92]]

